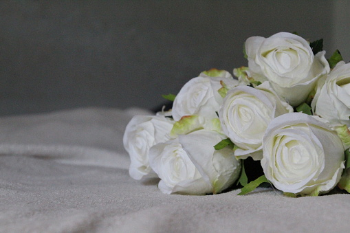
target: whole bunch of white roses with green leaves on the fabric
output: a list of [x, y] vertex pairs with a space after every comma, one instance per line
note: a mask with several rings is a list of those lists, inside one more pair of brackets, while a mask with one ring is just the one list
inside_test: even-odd
[[[124, 133], [133, 179], [186, 195], [244, 195], [267, 183], [290, 197], [350, 192], [350, 63], [322, 39], [279, 32], [245, 41], [248, 67], [189, 80], [172, 109], [136, 115]], [[251, 180], [245, 161], [260, 162]]]

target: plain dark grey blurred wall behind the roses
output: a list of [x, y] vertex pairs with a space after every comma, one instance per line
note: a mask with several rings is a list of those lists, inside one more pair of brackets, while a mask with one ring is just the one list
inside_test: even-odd
[[350, 60], [350, 1], [0, 1], [0, 115], [157, 109], [250, 36], [298, 32]]

